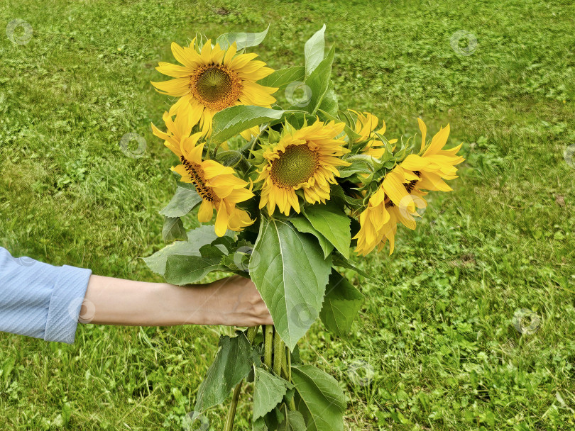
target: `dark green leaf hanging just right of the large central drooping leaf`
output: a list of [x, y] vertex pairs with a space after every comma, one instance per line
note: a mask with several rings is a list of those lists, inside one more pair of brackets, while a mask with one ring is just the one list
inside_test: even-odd
[[338, 337], [347, 337], [357, 312], [365, 298], [353, 284], [332, 270], [325, 291], [325, 300], [319, 318], [325, 327]]

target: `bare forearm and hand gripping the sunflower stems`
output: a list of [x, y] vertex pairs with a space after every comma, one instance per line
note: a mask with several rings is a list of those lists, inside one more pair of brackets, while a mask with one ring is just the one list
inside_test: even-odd
[[181, 287], [92, 275], [80, 322], [135, 326], [273, 324], [256, 286], [241, 276]]

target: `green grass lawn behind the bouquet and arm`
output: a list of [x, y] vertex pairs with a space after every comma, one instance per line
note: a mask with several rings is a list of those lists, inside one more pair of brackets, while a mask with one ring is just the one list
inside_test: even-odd
[[[268, 23], [263, 60], [300, 65], [326, 22], [341, 106], [385, 118], [390, 137], [417, 116], [432, 133], [449, 122], [467, 161], [391, 257], [357, 260], [378, 283], [354, 279], [368, 301], [350, 340], [316, 323], [302, 357], [341, 381], [350, 430], [572, 430], [574, 16], [570, 1], [4, 1], [0, 245], [159, 281], [138, 259], [163, 247], [157, 211], [175, 189], [150, 132], [169, 103], [153, 67], [172, 40]], [[15, 18], [27, 45], [4, 35]], [[471, 55], [450, 45], [461, 29]], [[144, 157], [120, 151], [125, 133], [146, 138]], [[522, 308], [533, 334], [513, 326]], [[72, 346], [2, 334], [0, 429], [182, 430], [222, 331], [81, 325]], [[222, 415], [207, 413], [212, 429]], [[249, 420], [241, 403], [238, 429]]]

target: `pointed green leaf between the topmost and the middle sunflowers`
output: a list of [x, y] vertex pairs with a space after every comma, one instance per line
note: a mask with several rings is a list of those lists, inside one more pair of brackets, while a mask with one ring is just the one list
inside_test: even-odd
[[243, 130], [272, 120], [279, 120], [285, 111], [261, 106], [231, 106], [214, 115], [212, 142], [220, 143], [239, 135]]

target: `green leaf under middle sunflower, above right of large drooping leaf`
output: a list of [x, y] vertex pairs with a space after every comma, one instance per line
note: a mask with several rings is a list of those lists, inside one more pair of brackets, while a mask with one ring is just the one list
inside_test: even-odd
[[312, 226], [331, 242], [337, 251], [349, 258], [351, 233], [349, 217], [344, 211], [328, 203], [327, 205], [310, 205], [305, 208], [304, 215]]

